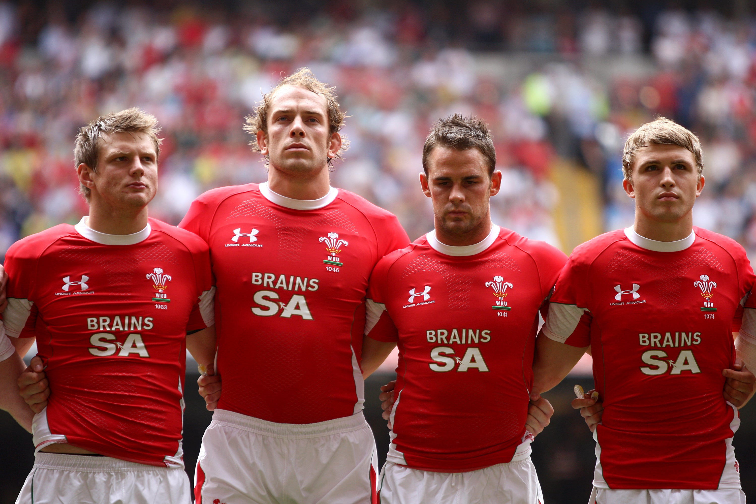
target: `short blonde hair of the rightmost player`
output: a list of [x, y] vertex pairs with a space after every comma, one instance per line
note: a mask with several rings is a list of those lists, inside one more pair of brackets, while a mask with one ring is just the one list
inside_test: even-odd
[[696, 168], [699, 170], [699, 178], [704, 172], [704, 160], [701, 151], [701, 141], [692, 131], [677, 124], [671, 119], [658, 116], [652, 122], [646, 122], [634, 131], [624, 143], [622, 153], [622, 173], [624, 179], [629, 181], [633, 177], [633, 162], [635, 150], [640, 147], [648, 147], [651, 144], [678, 145], [689, 150], [696, 158]]

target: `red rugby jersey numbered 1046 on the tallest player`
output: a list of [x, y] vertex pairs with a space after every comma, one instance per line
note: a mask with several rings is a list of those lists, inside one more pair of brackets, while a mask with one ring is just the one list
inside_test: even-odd
[[210, 246], [218, 407], [296, 424], [360, 412], [365, 292], [409, 243], [397, 218], [345, 190], [301, 200], [264, 183], [210, 190], [179, 225]]

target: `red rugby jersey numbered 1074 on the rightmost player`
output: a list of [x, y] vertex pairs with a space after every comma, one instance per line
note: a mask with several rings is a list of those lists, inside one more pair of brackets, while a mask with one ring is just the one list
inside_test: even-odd
[[572, 252], [544, 334], [592, 349], [596, 487], [740, 487], [722, 369], [753, 283], [745, 250], [698, 227], [671, 243], [628, 227]]

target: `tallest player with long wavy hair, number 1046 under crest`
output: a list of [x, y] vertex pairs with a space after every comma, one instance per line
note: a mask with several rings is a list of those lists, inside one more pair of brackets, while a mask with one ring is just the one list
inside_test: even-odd
[[220, 384], [200, 379], [214, 413], [198, 504], [375, 501], [364, 300], [375, 264], [409, 239], [394, 215], [330, 187], [344, 118], [308, 69], [282, 79], [246, 123], [268, 181], [210, 190], [181, 221], [209, 243], [218, 288], [223, 391], [215, 407]]

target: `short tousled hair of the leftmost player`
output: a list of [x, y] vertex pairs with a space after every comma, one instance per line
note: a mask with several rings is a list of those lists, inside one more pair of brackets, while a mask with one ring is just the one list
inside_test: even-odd
[[[84, 163], [93, 172], [97, 172], [100, 138], [102, 135], [123, 132], [146, 134], [155, 145], [155, 156], [160, 156], [160, 144], [163, 143], [163, 139], [157, 137], [157, 134], [160, 133], [157, 119], [144, 110], [132, 107], [120, 112], [99, 116], [79, 130], [79, 135], [76, 135], [76, 147], [73, 147], [73, 160], [76, 167]], [[79, 187], [79, 190], [88, 201], [91, 190], [83, 184]]]

